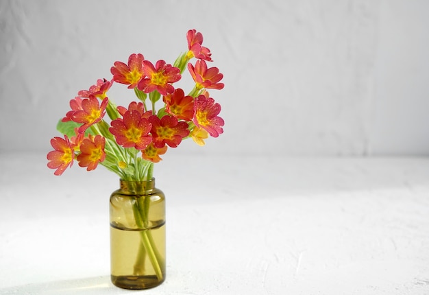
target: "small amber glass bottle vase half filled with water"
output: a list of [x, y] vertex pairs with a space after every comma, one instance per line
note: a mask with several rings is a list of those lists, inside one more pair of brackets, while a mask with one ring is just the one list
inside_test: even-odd
[[121, 180], [110, 196], [112, 283], [147, 289], [165, 279], [165, 196], [155, 178]]

